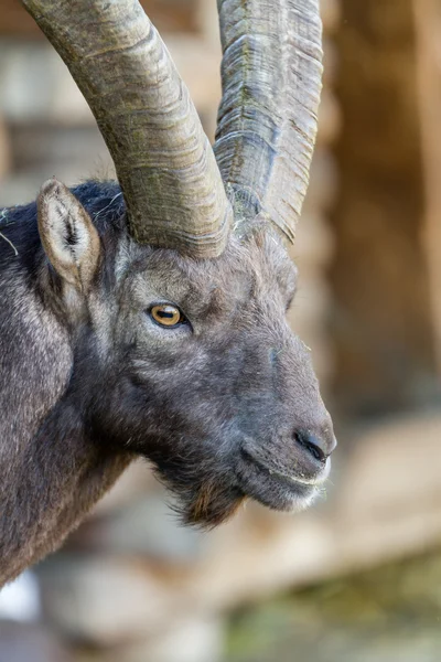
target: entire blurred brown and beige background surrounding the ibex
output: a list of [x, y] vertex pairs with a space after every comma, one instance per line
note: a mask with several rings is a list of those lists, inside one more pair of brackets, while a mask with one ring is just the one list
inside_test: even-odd
[[[144, 0], [213, 137], [215, 0]], [[133, 466], [0, 591], [0, 662], [435, 662], [441, 650], [441, 8], [322, 0], [325, 87], [291, 322], [340, 447], [326, 498], [179, 527]], [[93, 39], [93, 35], [90, 35]], [[111, 177], [19, 0], [0, 12], [0, 207]]]

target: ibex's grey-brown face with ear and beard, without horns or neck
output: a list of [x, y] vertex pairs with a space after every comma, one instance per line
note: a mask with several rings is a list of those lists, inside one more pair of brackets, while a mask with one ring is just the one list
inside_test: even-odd
[[[75, 340], [72, 397], [93, 437], [149, 458], [187, 522], [246, 496], [306, 505], [335, 445], [310, 352], [286, 311], [297, 273], [265, 228], [218, 258], [110, 243], [56, 181], [39, 200], [43, 245]], [[111, 246], [111, 250], [106, 246]]]

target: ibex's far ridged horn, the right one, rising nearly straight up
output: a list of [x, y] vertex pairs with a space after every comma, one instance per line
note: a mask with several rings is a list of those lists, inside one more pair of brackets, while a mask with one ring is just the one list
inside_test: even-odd
[[245, 218], [293, 241], [309, 182], [322, 75], [319, 0], [217, 0], [223, 99], [215, 154]]

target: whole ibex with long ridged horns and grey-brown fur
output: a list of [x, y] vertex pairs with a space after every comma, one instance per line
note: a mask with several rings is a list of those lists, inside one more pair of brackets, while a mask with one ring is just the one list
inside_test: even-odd
[[23, 0], [88, 102], [119, 184], [6, 209], [0, 585], [148, 458], [184, 522], [308, 505], [335, 447], [286, 311], [321, 88], [319, 0], [218, 0], [214, 148], [137, 0]]

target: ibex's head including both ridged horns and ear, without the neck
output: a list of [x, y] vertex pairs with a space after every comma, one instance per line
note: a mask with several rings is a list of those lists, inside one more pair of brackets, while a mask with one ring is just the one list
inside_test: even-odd
[[127, 207], [99, 224], [55, 181], [40, 196], [75, 339], [67, 397], [101, 447], [152, 460], [189, 522], [216, 524], [244, 496], [306, 504], [335, 441], [284, 319], [295, 269], [282, 238], [315, 138], [318, 0], [217, 0], [214, 149], [137, 0], [23, 2], [89, 103]]

